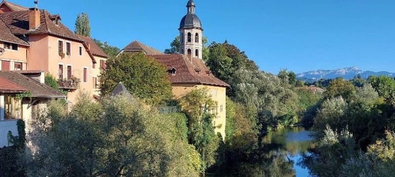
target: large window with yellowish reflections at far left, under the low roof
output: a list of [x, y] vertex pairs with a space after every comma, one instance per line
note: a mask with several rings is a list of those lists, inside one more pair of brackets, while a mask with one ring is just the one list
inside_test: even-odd
[[[21, 106], [19, 108], [19, 106]], [[16, 119], [22, 117], [22, 104], [14, 97], [10, 95], [4, 96], [4, 119]]]

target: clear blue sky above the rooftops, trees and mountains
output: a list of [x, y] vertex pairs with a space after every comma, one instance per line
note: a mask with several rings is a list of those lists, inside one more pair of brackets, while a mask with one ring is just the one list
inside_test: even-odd
[[[32, 7], [33, 0], [10, 0]], [[164, 51], [178, 34], [187, 0], [39, 0], [74, 30], [78, 13], [91, 35], [123, 48], [132, 40]], [[393, 0], [195, 0], [204, 35], [246, 51], [262, 70], [297, 73], [357, 66], [395, 72]]]

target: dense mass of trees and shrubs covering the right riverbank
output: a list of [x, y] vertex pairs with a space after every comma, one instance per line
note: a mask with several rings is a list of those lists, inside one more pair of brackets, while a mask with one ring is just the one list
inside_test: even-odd
[[[355, 84], [358, 83], [358, 84]], [[393, 176], [395, 80], [329, 82], [314, 118], [317, 147], [304, 164], [317, 176]]]

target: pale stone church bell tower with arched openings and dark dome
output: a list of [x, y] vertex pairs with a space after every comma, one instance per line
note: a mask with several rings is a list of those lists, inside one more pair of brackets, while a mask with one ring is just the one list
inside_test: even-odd
[[195, 3], [189, 0], [187, 14], [181, 19], [180, 28], [180, 54], [189, 58], [203, 59], [203, 28], [199, 17], [195, 14]]

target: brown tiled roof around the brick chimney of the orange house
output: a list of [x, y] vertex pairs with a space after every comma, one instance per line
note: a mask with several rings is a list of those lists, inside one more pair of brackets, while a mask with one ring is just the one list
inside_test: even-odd
[[14, 35], [22, 34], [51, 34], [75, 41], [83, 42], [83, 40], [74, 34], [70, 29], [62, 23], [56, 25], [51, 19], [47, 11], [40, 10], [40, 25], [35, 30], [29, 30], [29, 11], [17, 11], [0, 14], [0, 19], [7, 25]]

